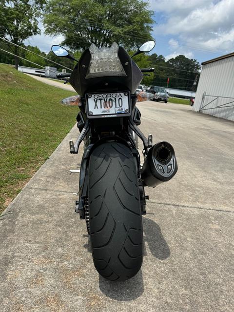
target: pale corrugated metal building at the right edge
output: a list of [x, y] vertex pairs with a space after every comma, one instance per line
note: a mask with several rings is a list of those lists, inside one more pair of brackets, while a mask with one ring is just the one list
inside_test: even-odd
[[234, 121], [234, 53], [202, 63], [193, 108]]

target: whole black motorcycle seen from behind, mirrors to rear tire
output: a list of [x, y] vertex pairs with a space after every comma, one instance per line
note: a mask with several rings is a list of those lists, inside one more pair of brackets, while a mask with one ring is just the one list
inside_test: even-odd
[[[154, 46], [155, 41], [147, 41], [133, 56]], [[74, 59], [58, 45], [52, 46], [52, 52]], [[71, 74], [58, 75], [69, 77], [78, 92], [61, 101], [79, 108], [80, 135], [75, 143], [69, 142], [70, 153], [78, 154], [84, 141], [75, 211], [86, 220], [98, 273], [111, 281], [127, 280], [141, 268], [142, 215], [149, 199], [144, 188], [156, 187], [177, 172], [172, 145], [165, 141], [153, 145], [152, 135], [147, 139], [138, 128], [141, 114], [136, 102], [154, 95], [136, 92], [137, 86], [142, 73], [154, 69], [139, 69], [132, 57], [115, 42], [109, 48], [91, 44]], [[137, 137], [144, 146], [142, 166]]]

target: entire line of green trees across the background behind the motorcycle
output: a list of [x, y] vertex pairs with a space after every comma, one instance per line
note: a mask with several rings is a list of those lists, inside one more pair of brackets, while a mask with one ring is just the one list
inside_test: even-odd
[[[24, 41], [40, 34], [39, 19], [43, 21], [45, 33], [63, 35], [61, 42], [79, 58], [81, 51], [93, 42], [98, 47], [109, 46], [113, 41], [124, 46], [130, 55], [137, 47], [152, 38], [154, 12], [144, 0], [0, 0], [0, 37], [26, 47], [28, 50], [54, 60], [68, 68], [74, 62], [45, 54], [38, 47], [25, 46]], [[0, 49], [12, 52], [40, 66], [53, 66], [49, 60], [0, 40]], [[200, 64], [183, 55], [166, 60], [162, 55], [141, 54], [134, 58], [139, 67], [154, 67], [155, 72], [144, 76], [146, 85], [168, 86], [185, 90], [196, 90]], [[0, 62], [36, 67], [26, 60], [5, 54], [0, 50]]]

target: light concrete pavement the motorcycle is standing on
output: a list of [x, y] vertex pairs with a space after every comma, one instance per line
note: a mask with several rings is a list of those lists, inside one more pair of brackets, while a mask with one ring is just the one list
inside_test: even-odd
[[[143, 102], [141, 130], [168, 140], [179, 170], [150, 195], [141, 271], [98, 276], [74, 212], [78, 156], [69, 139], [0, 217], [2, 312], [233, 312], [234, 123], [185, 105]], [[75, 118], [75, 116], [74, 116]]]

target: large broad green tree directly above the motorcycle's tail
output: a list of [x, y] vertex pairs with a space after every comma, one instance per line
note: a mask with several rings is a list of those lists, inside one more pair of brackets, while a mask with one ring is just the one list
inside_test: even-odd
[[44, 13], [45, 33], [62, 34], [75, 51], [114, 41], [135, 48], [152, 39], [153, 11], [144, 0], [48, 0]]

